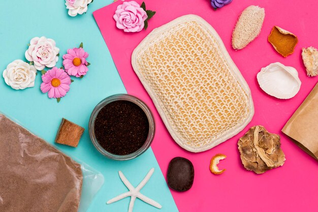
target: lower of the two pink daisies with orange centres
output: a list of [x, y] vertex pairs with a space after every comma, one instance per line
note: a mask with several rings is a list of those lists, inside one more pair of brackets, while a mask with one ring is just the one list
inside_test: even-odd
[[42, 75], [41, 91], [49, 98], [61, 98], [70, 90], [71, 77], [63, 70], [53, 67]]

